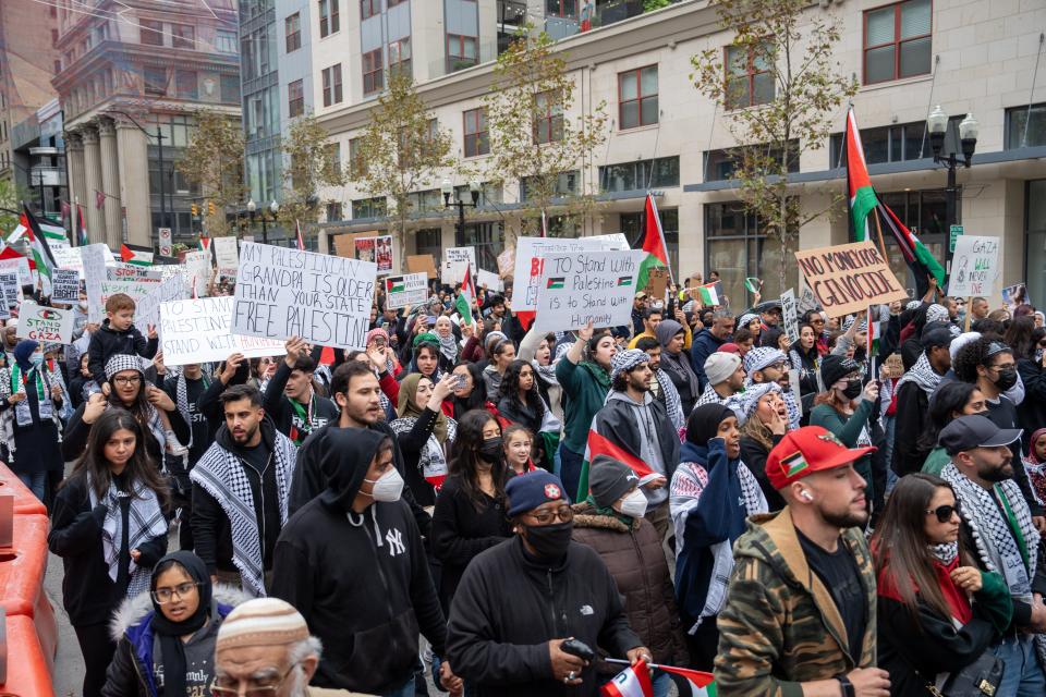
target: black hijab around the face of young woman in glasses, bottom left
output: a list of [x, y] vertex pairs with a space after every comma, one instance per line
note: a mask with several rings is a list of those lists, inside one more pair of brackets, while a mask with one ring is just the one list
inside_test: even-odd
[[153, 598], [153, 609], [156, 610], [156, 614], [153, 615], [153, 631], [160, 637], [165, 695], [185, 694], [185, 671], [187, 668], [185, 663], [185, 643], [182, 641], [182, 637], [198, 632], [207, 623], [207, 617], [210, 615], [212, 592], [207, 565], [199, 557], [186, 551], [172, 552], [157, 562], [156, 566], [153, 567], [149, 590], [156, 590], [157, 577], [174, 566], [181, 566], [196, 584], [199, 604], [196, 607], [196, 612], [185, 620], [172, 622], [163, 616], [156, 598]]

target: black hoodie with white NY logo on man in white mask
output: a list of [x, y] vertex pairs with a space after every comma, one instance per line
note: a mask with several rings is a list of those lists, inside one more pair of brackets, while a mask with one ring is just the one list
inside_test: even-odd
[[324, 643], [314, 685], [386, 694], [413, 675], [418, 632], [445, 655], [443, 613], [406, 503], [352, 511], [385, 436], [327, 430], [328, 487], [283, 527], [271, 595], [293, 604]]

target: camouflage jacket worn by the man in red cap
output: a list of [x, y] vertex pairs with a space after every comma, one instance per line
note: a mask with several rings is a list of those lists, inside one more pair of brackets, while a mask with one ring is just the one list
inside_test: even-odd
[[752, 516], [734, 543], [733, 575], [719, 613], [716, 683], [719, 697], [801, 697], [800, 683], [872, 668], [875, 656], [875, 572], [864, 536], [842, 534], [853, 551], [868, 601], [860, 661], [828, 589], [810, 568], [789, 510]]

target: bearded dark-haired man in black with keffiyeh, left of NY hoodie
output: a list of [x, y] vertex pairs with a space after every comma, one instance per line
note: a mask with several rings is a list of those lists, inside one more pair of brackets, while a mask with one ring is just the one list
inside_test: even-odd
[[226, 423], [188, 475], [195, 551], [214, 580], [265, 596], [272, 550], [288, 518], [296, 449], [276, 430], [257, 388], [229, 388], [221, 403]]

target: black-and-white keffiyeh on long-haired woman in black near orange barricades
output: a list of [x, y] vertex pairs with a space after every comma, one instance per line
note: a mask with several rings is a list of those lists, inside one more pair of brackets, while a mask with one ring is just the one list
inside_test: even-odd
[[[130, 497], [131, 506], [127, 513], [127, 549], [135, 549], [148, 540], [167, 535], [167, 518], [160, 509], [160, 501], [156, 492], [141, 481], [135, 481], [130, 492], [120, 491], [115, 482], [109, 482], [109, 490], [99, 500], [92, 486], [90, 475], [87, 475], [87, 491], [90, 498], [90, 508], [99, 503], [106, 506], [106, 519], [101, 524], [101, 553], [109, 566], [109, 578], [117, 580], [120, 573], [120, 542], [123, 539], [123, 515], [120, 512], [120, 499]], [[149, 589], [151, 568], [138, 566], [132, 559], [127, 583], [127, 598]]]

